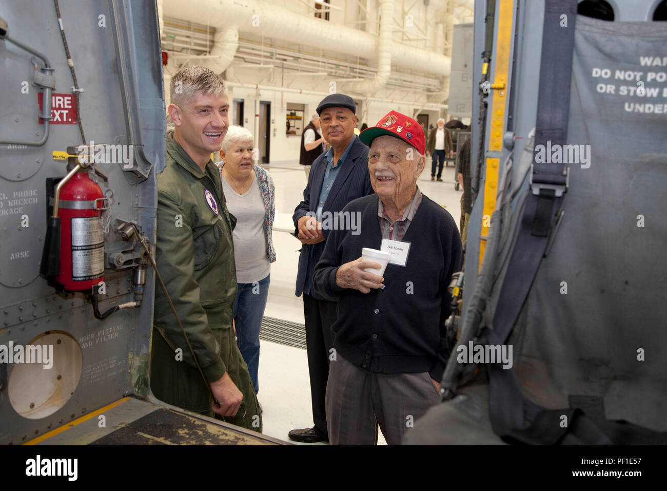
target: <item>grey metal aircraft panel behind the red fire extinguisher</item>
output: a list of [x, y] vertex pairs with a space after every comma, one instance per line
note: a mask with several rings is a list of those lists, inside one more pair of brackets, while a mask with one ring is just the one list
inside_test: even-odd
[[[0, 0], [0, 11], [9, 35], [51, 63], [53, 92], [71, 94], [74, 84], [53, 3]], [[157, 9], [151, 1], [90, 0], [61, 1], [60, 12], [78, 85], [83, 88], [77, 118], [87, 141], [82, 141], [77, 124], [58, 124], [49, 128], [43, 146], [0, 144], [0, 345], [25, 345], [51, 339], [47, 332], [61, 332], [77, 345], [74, 351], [80, 351], [81, 366], [73, 393], [63, 405], [47, 416], [30, 418], [17, 412], [8, 394], [9, 379], [22, 376], [21, 365], [0, 363], [0, 444], [26, 442], [125, 395], [149, 395], [153, 272], [147, 270], [140, 307], [100, 320], [83, 293], [59, 293], [39, 277], [39, 263], [49, 208], [47, 179], [67, 174], [67, 162], [53, 160], [52, 154], [91, 141], [131, 145], [133, 152], [127, 168], [123, 162], [97, 164], [108, 179], [95, 179], [105, 196], [112, 196], [109, 214], [103, 218], [108, 224], [105, 253], [141, 257], [137, 242], [124, 241], [115, 232], [116, 218], [135, 222], [147, 242], [155, 243], [155, 170], [163, 168], [165, 154]], [[42, 62], [7, 39], [0, 40], [0, 59], [0, 140], [39, 141], [41, 90], [32, 81], [35, 64]], [[133, 269], [113, 269], [106, 255], [105, 267], [102, 312], [135, 299]], [[65, 375], [58, 379], [49, 373], [43, 383], [57, 390], [65, 387], [63, 379]], [[37, 405], [39, 401], [35, 410]]]

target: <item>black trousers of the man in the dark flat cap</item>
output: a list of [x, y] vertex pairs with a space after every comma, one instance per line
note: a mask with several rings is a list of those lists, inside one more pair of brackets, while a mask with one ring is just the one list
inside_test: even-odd
[[331, 325], [336, 321], [336, 302], [314, 299], [303, 293], [305, 343], [308, 353], [310, 397], [313, 404], [313, 423], [317, 430], [328, 435], [325, 397], [329, 378], [329, 349], [333, 347]]

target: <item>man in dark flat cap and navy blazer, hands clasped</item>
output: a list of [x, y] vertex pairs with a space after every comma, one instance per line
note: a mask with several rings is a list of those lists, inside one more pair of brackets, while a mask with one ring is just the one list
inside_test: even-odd
[[[331, 148], [313, 162], [303, 201], [294, 210], [294, 226], [301, 239], [296, 295], [303, 296], [305, 339], [313, 406], [313, 426], [291, 430], [296, 442], [328, 440], [325, 393], [329, 359], [335, 358], [331, 324], [336, 320], [336, 299], [325, 299], [313, 290], [313, 270], [331, 232], [331, 216], [348, 202], [372, 194], [368, 174], [368, 147], [354, 134], [356, 104], [350, 96], [331, 94], [317, 106], [322, 136]], [[336, 220], [334, 223], [338, 223]]]

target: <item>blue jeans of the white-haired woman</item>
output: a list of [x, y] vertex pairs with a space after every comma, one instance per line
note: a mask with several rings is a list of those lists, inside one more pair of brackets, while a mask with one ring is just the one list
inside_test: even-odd
[[259, 392], [259, 329], [264, 317], [266, 299], [269, 296], [269, 274], [255, 283], [237, 283], [239, 290], [234, 299], [233, 315], [236, 325], [236, 344], [248, 365], [255, 393]]

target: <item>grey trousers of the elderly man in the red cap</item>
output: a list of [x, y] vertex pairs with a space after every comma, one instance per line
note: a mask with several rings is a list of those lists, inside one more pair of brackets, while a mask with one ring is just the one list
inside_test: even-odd
[[326, 393], [329, 443], [377, 444], [379, 425], [388, 444], [400, 445], [414, 422], [438, 401], [427, 372], [373, 373], [337, 353], [329, 363]]

